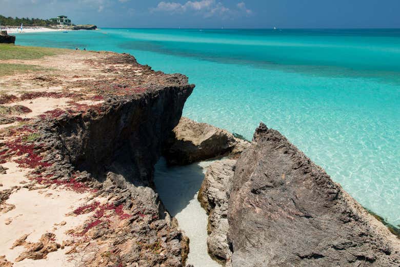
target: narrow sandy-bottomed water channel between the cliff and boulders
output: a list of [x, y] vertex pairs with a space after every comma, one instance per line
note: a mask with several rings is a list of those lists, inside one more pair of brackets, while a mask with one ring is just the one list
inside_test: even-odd
[[159, 197], [179, 228], [189, 237], [188, 264], [221, 267], [207, 253], [207, 220], [205, 210], [197, 200], [204, 174], [211, 161], [168, 168], [164, 158], [155, 166], [154, 183]]

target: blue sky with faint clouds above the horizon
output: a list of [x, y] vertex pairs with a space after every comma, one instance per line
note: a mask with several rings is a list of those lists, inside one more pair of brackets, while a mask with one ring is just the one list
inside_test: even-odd
[[0, 14], [115, 28], [400, 28], [400, 0], [0, 0]]

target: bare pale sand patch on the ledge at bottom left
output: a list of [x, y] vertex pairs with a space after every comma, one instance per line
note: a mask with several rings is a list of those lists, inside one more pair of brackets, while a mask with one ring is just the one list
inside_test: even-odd
[[[0, 182], [3, 183], [0, 190], [12, 186], [22, 187], [24, 184], [20, 182], [27, 180], [24, 176], [29, 170], [18, 168], [14, 162], [2, 165], [9, 169], [7, 174], [0, 174]], [[16, 247], [12, 250], [10, 248], [14, 241], [24, 234], [29, 234], [27, 241], [30, 242], [37, 242], [47, 232], [54, 233], [56, 242], [60, 244], [63, 240], [70, 239], [71, 237], [65, 232], [83, 224], [90, 214], [80, 216], [66, 216], [66, 214], [86, 203], [90, 195], [91, 193], [80, 194], [51, 188], [32, 191], [21, 188], [12, 193], [6, 203], [14, 204], [15, 209], [7, 213], [0, 213], [0, 255], [5, 255], [8, 261], [13, 262], [25, 249], [24, 247]], [[62, 221], [65, 221], [66, 224], [55, 225]], [[47, 259], [25, 259], [15, 262], [13, 266], [74, 266], [73, 262], [68, 262], [69, 255], [65, 255], [66, 251], [68, 248], [59, 249], [49, 253]]]

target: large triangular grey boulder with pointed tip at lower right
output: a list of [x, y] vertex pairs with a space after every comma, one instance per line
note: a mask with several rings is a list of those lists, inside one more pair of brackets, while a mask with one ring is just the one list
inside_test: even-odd
[[234, 267], [400, 264], [399, 240], [263, 124], [236, 163], [228, 221]]

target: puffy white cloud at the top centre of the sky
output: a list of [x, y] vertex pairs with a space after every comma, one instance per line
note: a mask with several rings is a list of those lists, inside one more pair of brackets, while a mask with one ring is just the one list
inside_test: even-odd
[[234, 16], [239, 14], [251, 14], [252, 11], [246, 8], [244, 2], [238, 3], [233, 9], [225, 7], [221, 2], [215, 0], [188, 1], [185, 4], [176, 2], [159, 2], [151, 12], [166, 12], [170, 14], [195, 12], [203, 14], [205, 17], [211, 16]]

